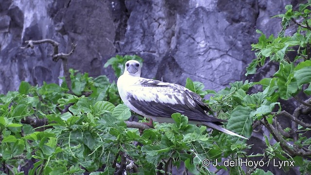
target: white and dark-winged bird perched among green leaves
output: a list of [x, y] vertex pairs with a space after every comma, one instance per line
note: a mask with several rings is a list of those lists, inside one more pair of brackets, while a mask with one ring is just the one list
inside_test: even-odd
[[201, 96], [178, 84], [142, 78], [141, 64], [136, 60], [125, 63], [124, 72], [117, 80], [119, 95], [124, 105], [137, 114], [159, 123], [174, 123], [171, 115], [180, 113], [189, 123], [203, 124], [226, 134], [247, 138], [223, 128], [225, 120], [207, 115], [209, 107]]

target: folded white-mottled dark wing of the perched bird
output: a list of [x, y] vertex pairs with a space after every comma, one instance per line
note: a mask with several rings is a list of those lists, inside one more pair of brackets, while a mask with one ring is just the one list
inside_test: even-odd
[[186, 115], [190, 121], [222, 124], [224, 120], [207, 116], [209, 108], [201, 97], [189, 89], [171, 83], [141, 78], [127, 89], [130, 104], [142, 113], [154, 117], [171, 117], [175, 112]]

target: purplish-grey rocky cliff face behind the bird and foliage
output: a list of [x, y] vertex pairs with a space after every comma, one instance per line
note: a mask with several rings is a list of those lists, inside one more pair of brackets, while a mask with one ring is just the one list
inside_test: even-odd
[[[61, 61], [52, 46], [20, 49], [26, 40], [50, 38], [69, 53], [69, 67], [91, 76], [106, 74], [116, 54], [138, 54], [142, 76], [185, 85], [186, 78], [220, 90], [244, 80], [255, 58], [256, 29], [277, 34], [286, 4], [300, 0], [0, 0], [0, 93], [32, 85], [59, 83]], [[273, 64], [253, 78], [269, 76]], [[252, 78], [252, 77], [250, 77]], [[261, 135], [262, 136], [262, 135]], [[253, 141], [261, 138], [254, 138]], [[260, 142], [258, 145], [260, 146]], [[264, 144], [264, 143], [262, 143]], [[293, 173], [293, 172], [292, 172]]]

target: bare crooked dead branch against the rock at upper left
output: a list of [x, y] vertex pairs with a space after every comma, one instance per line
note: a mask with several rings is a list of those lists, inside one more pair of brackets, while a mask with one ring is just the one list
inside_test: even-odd
[[25, 41], [25, 43], [27, 45], [25, 47], [20, 47], [21, 49], [27, 49], [27, 48], [34, 49], [34, 45], [42, 44], [42, 43], [52, 44], [52, 46], [54, 48], [54, 52], [52, 54], [52, 61], [57, 62], [59, 59], [62, 60], [65, 80], [66, 80], [67, 86], [69, 88], [69, 93], [72, 93], [70, 73], [69, 73], [69, 69], [68, 69], [68, 57], [74, 52], [74, 50], [75, 50], [77, 45], [76, 44], [71, 44], [72, 45], [72, 49], [71, 49], [71, 51], [69, 53], [59, 53], [59, 50], [58, 50], [59, 43], [54, 41], [54, 40], [52, 40], [52, 39], [27, 40], [27, 41]]

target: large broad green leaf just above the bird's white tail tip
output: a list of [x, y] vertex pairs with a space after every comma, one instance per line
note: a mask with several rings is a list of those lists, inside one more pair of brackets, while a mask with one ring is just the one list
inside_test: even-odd
[[251, 111], [249, 107], [243, 107], [241, 105], [234, 108], [226, 128], [236, 134], [249, 138], [253, 132], [253, 119], [250, 116]]

